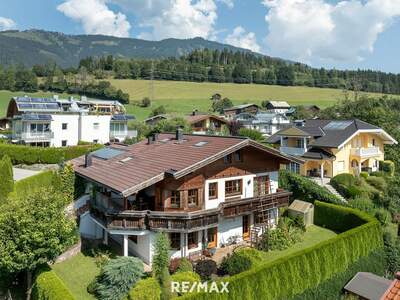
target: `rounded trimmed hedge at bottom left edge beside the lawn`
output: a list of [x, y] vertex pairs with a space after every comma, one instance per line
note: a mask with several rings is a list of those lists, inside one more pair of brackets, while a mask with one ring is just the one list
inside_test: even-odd
[[71, 292], [49, 267], [39, 271], [32, 288], [33, 300], [74, 300]]

